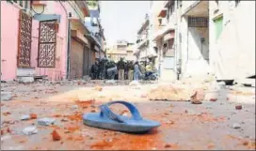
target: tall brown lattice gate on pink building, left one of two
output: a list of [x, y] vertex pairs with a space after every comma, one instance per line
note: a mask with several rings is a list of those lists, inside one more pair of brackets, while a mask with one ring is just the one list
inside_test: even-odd
[[19, 35], [18, 35], [18, 68], [30, 67], [32, 36], [32, 17], [20, 10]]

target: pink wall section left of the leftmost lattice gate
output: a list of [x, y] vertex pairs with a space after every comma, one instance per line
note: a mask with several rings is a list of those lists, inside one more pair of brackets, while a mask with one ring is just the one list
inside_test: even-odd
[[[12, 19], [10, 20], [11, 17]], [[1, 1], [1, 80], [16, 78], [19, 8]]]

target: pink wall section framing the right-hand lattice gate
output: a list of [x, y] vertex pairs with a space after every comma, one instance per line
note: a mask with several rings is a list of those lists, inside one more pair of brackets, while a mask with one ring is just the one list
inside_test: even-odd
[[[56, 33], [56, 68], [37, 68], [38, 61], [38, 38], [39, 38], [39, 22], [33, 22], [32, 31], [32, 66], [36, 68], [38, 75], [48, 75], [50, 80], [61, 80], [66, 78], [67, 68], [67, 34], [68, 34], [68, 22], [65, 9], [62, 8], [59, 2], [44, 1], [46, 4], [46, 10], [44, 14], [58, 14], [61, 15], [59, 29]], [[51, 9], [54, 8], [54, 9]]]

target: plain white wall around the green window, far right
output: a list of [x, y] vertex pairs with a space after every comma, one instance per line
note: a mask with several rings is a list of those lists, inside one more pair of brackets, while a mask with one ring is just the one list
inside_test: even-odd
[[[255, 75], [255, 1], [210, 2], [210, 64], [218, 79], [241, 79]], [[216, 41], [213, 19], [223, 15], [224, 27]]]

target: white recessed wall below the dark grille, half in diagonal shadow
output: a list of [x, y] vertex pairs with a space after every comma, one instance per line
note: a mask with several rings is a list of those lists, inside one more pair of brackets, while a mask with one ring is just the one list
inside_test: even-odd
[[[205, 27], [189, 27], [187, 17], [182, 18], [182, 75], [200, 76], [211, 73], [212, 69], [207, 61], [209, 53], [209, 30]], [[205, 38], [201, 44], [200, 38]]]

